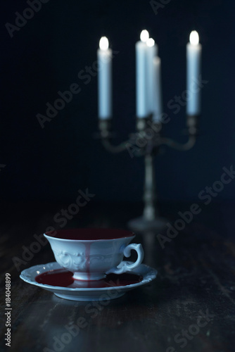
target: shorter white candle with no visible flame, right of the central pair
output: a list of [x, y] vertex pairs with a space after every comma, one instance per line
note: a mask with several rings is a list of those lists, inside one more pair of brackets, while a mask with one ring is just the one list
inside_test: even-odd
[[153, 122], [160, 122], [163, 113], [161, 62], [156, 56], [153, 58], [153, 91], [151, 92], [153, 101]]

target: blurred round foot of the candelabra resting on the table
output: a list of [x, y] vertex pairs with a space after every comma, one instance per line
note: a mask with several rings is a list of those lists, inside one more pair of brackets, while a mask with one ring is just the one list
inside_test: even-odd
[[144, 216], [141, 216], [140, 218], [130, 220], [127, 225], [129, 229], [134, 232], [158, 232], [163, 230], [163, 228], [167, 225], [167, 222], [169, 222], [169, 220], [165, 218], [155, 218], [153, 220], [148, 220], [144, 218]]

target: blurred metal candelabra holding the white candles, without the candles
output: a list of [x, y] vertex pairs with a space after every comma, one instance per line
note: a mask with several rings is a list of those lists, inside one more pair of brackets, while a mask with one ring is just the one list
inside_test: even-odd
[[[99, 120], [99, 134], [103, 146], [111, 153], [120, 153], [128, 150], [134, 156], [144, 156], [145, 177], [144, 177], [144, 213], [141, 218], [128, 222], [129, 228], [138, 231], [159, 230], [164, 227], [167, 220], [160, 218], [156, 206], [157, 196], [155, 189], [155, 170], [153, 159], [157, 155], [159, 147], [163, 144], [179, 151], [187, 151], [193, 147], [198, 134], [198, 115], [188, 115], [186, 125], [188, 129], [188, 141], [185, 144], [174, 142], [170, 138], [162, 137], [161, 122], [153, 121], [153, 116], [136, 119], [136, 132], [129, 135], [127, 141], [114, 145], [112, 120]], [[143, 146], [138, 147], [138, 140], [142, 140]]]

